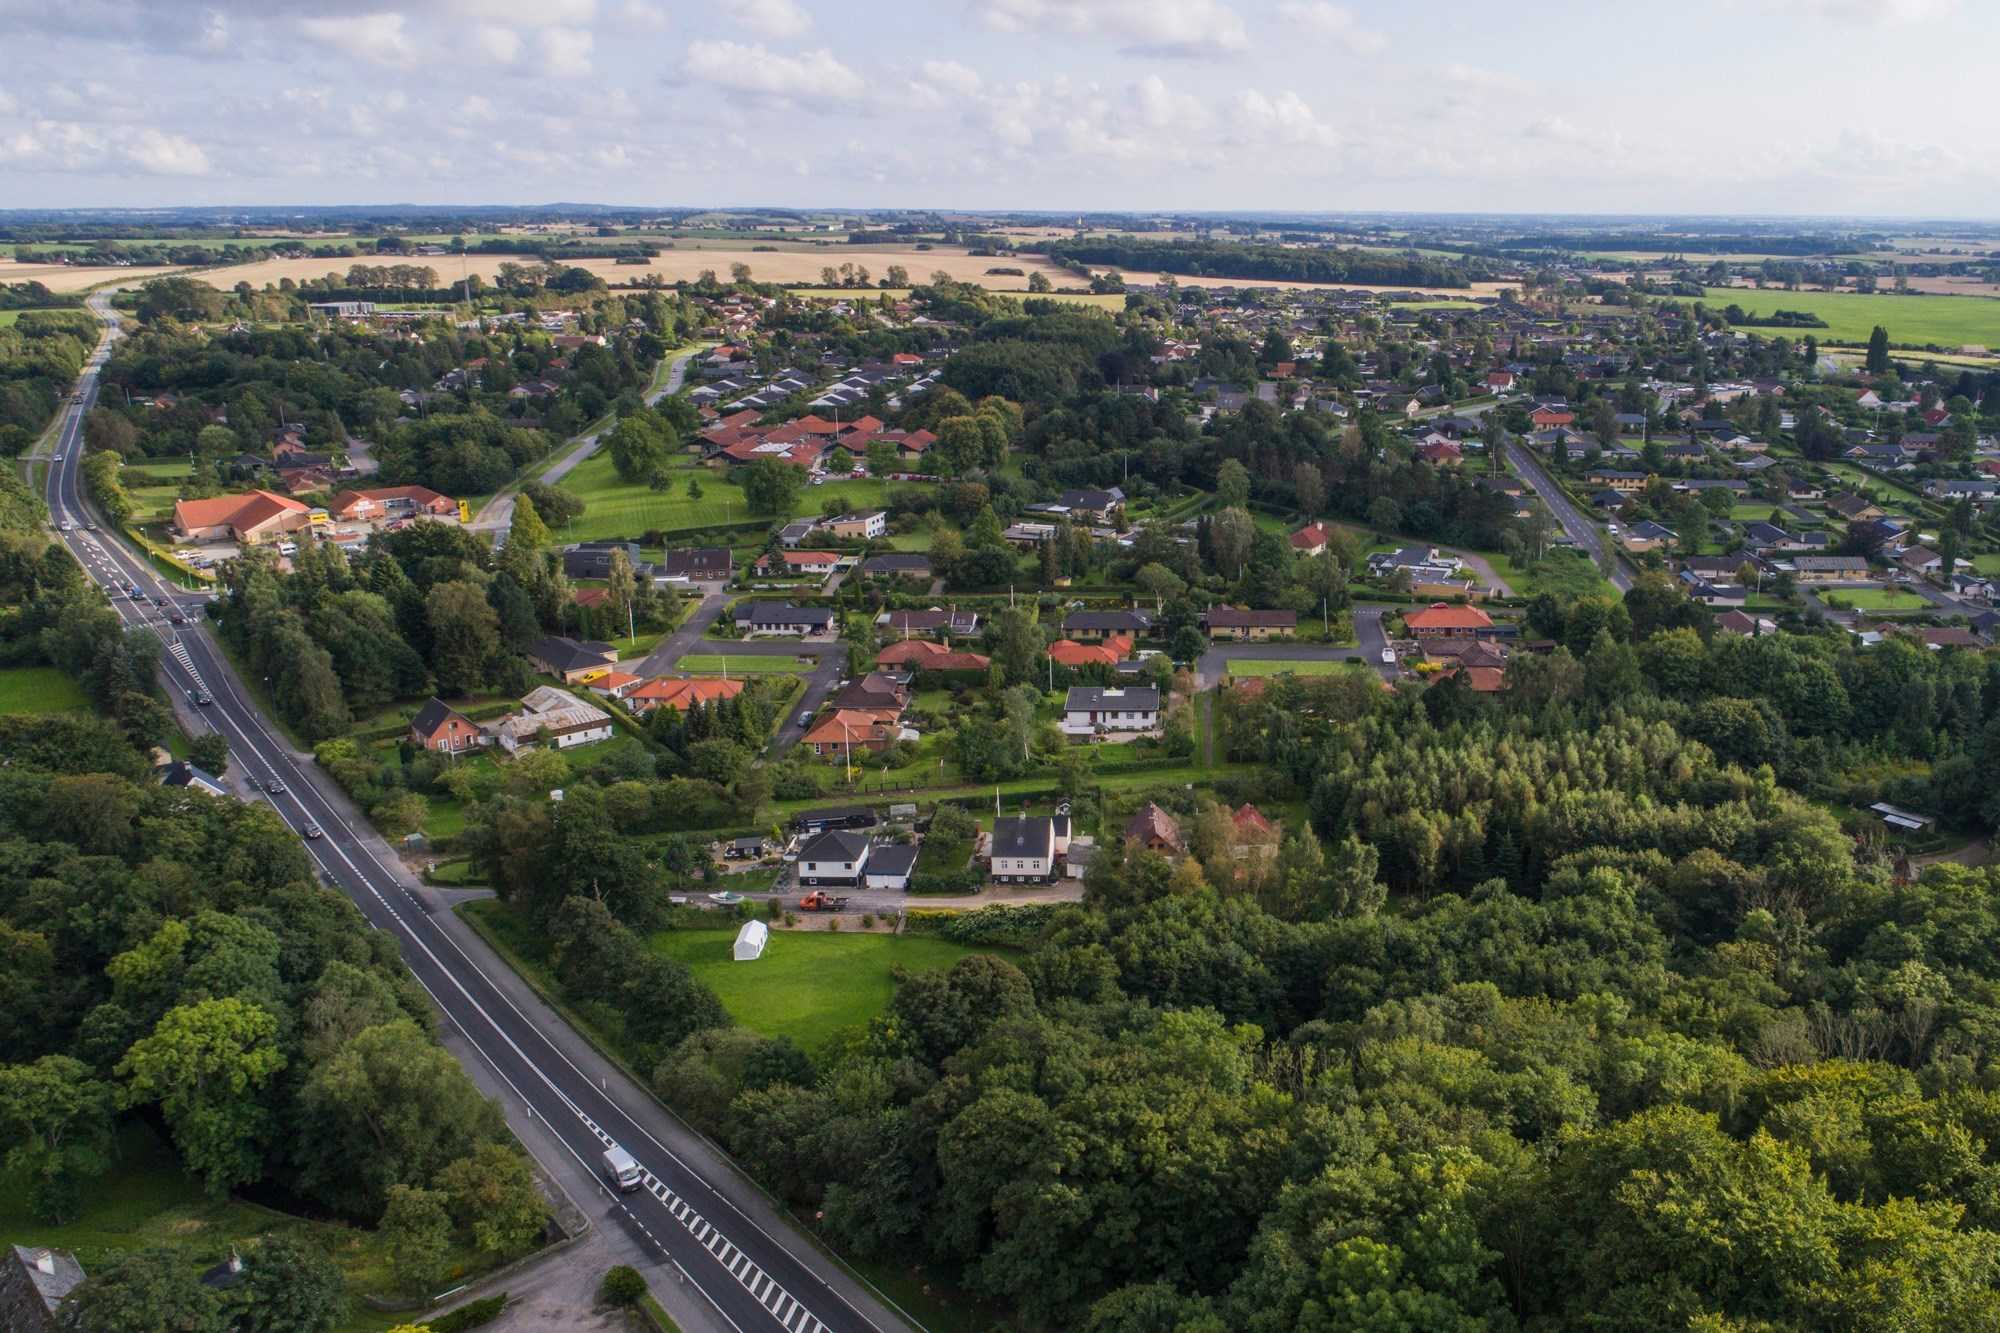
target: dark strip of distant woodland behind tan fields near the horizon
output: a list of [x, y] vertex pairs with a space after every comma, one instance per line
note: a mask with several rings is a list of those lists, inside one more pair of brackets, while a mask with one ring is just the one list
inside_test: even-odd
[[[1028, 246], [1034, 248], [1034, 246]], [[1140, 240], [1136, 236], [1086, 236], [1040, 246], [1058, 264], [1086, 264], [1134, 272], [1172, 272], [1188, 278], [1270, 278], [1282, 282], [1366, 282], [1388, 286], [1466, 286], [1484, 276], [1466, 260], [1424, 258], [1380, 250], [1334, 250], [1232, 240]]]

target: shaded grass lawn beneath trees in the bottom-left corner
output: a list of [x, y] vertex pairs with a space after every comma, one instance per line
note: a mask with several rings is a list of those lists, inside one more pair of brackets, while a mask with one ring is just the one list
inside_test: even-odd
[[[52, 1245], [68, 1249], [84, 1273], [104, 1269], [126, 1251], [172, 1245], [192, 1271], [230, 1257], [232, 1247], [248, 1247], [264, 1235], [290, 1233], [326, 1249], [348, 1275], [348, 1291], [384, 1291], [388, 1251], [374, 1233], [342, 1223], [320, 1223], [276, 1213], [238, 1199], [210, 1199], [190, 1179], [166, 1143], [140, 1121], [128, 1121], [118, 1135], [118, 1163], [84, 1189], [82, 1213], [62, 1225], [38, 1221], [28, 1211], [28, 1185], [14, 1173], [0, 1175], [0, 1245]], [[470, 1251], [454, 1251], [458, 1273], [478, 1263]], [[378, 1315], [354, 1301], [346, 1333], [376, 1333], [408, 1317]]]

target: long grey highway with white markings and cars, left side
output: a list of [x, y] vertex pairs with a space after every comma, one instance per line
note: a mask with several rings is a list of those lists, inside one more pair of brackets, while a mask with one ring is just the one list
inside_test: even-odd
[[[480, 957], [474, 957], [458, 939], [464, 927], [408, 879], [374, 831], [352, 819], [344, 797], [266, 723], [210, 638], [206, 594], [176, 588], [122, 540], [92, 526], [96, 514], [78, 488], [82, 422], [118, 338], [118, 318], [108, 294], [92, 296], [90, 308], [106, 320], [106, 336], [78, 380], [76, 402], [66, 408], [46, 478], [60, 540], [110, 594], [128, 626], [152, 628], [166, 642], [160, 662], [168, 689], [190, 701], [196, 693], [212, 695], [214, 703], [192, 711], [228, 741], [232, 767], [256, 779], [262, 799], [292, 829], [324, 831], [304, 843], [320, 877], [346, 893], [368, 925], [396, 937], [448, 1025], [510, 1091], [500, 1101], [516, 1133], [528, 1141], [540, 1121], [542, 1133], [534, 1137], [560, 1143], [570, 1161], [544, 1159], [544, 1169], [558, 1173], [598, 1223], [644, 1237], [662, 1265], [706, 1297], [714, 1327], [736, 1333], [912, 1327], [792, 1231], [732, 1163], [662, 1115], [582, 1037], [524, 997], [504, 963], [478, 945]], [[144, 598], [126, 594], [134, 586]], [[186, 614], [186, 628], [168, 622], [172, 610]], [[272, 779], [282, 783], [280, 795], [270, 791]], [[602, 1185], [600, 1155], [614, 1141], [644, 1169], [638, 1193], [620, 1197]]]

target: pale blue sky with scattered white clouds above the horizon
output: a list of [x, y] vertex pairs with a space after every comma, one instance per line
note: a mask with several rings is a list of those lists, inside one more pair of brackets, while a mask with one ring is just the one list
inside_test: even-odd
[[1996, 38], [1992, 0], [0, 0], [0, 208], [1992, 220]]

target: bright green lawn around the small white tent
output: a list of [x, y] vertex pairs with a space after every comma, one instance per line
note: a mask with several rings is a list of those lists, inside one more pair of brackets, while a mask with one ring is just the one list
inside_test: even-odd
[[734, 939], [734, 929], [662, 931], [652, 947], [686, 963], [732, 1019], [806, 1051], [822, 1051], [882, 1013], [896, 993], [890, 969], [930, 971], [980, 953], [922, 935], [772, 931], [762, 959], [736, 963]]

